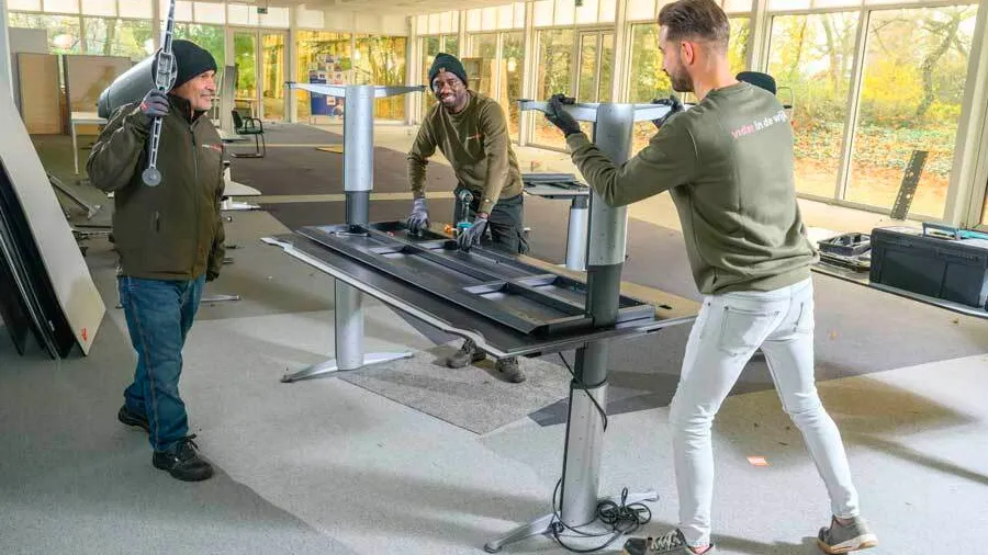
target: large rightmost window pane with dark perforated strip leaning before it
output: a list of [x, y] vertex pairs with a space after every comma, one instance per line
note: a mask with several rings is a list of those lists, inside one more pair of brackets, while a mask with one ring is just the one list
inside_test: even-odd
[[977, 5], [872, 12], [845, 199], [890, 208], [929, 152], [911, 212], [942, 217]]

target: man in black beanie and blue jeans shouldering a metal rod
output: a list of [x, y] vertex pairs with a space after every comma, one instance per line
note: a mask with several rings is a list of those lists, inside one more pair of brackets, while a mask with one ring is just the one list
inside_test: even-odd
[[[178, 384], [203, 285], [223, 263], [223, 143], [204, 115], [216, 91], [216, 61], [188, 41], [175, 41], [172, 54], [178, 72], [171, 90], [154, 89], [116, 110], [86, 169], [93, 185], [114, 193], [117, 287], [137, 352], [117, 419], [148, 433], [155, 467], [197, 482], [212, 476], [213, 467], [189, 435]], [[161, 118], [162, 179], [148, 186], [141, 174], [155, 117]]]

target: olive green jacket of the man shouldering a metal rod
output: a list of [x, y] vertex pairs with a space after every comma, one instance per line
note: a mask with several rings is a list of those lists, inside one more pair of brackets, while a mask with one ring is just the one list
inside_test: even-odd
[[169, 95], [157, 168], [161, 183], [147, 186], [151, 118], [138, 103], [121, 106], [100, 133], [86, 165], [92, 184], [114, 193], [113, 240], [120, 273], [151, 280], [215, 279], [224, 257], [220, 215], [223, 143], [210, 118], [192, 115]]

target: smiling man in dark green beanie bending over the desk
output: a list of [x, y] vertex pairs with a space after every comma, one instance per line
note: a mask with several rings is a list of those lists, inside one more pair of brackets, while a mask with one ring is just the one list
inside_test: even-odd
[[[429, 86], [439, 102], [426, 114], [408, 152], [408, 181], [414, 197], [408, 228], [417, 233], [428, 227], [425, 172], [438, 147], [457, 174], [454, 193], [468, 190], [473, 194], [468, 214], [461, 213], [460, 202], [456, 203], [453, 222], [472, 223], [457, 238], [460, 248], [489, 245], [512, 254], [527, 252], [521, 226], [521, 172], [512, 150], [504, 110], [493, 99], [470, 90], [468, 82], [463, 64], [456, 56], [436, 55], [429, 68]], [[484, 353], [467, 340], [447, 365], [463, 367], [483, 359]], [[525, 381], [514, 356], [498, 360], [496, 369], [509, 382]]]

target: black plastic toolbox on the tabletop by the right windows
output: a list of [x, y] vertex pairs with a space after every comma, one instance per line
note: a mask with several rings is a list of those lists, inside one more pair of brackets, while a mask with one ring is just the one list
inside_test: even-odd
[[876, 227], [871, 240], [872, 283], [988, 309], [988, 240], [909, 227]]

